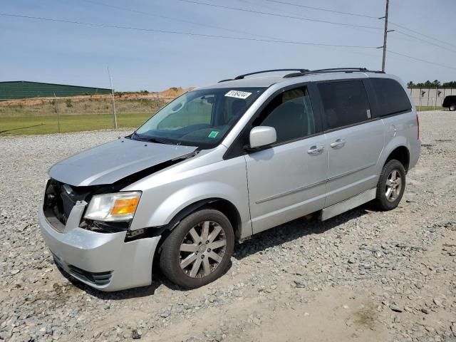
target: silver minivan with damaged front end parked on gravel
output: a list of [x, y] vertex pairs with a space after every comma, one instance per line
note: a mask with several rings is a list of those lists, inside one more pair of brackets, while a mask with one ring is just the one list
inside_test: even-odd
[[133, 134], [53, 165], [38, 216], [58, 268], [115, 291], [151, 284], [160, 264], [196, 288], [265, 229], [397, 207], [420, 155], [403, 83], [364, 68], [269, 72], [185, 93]]

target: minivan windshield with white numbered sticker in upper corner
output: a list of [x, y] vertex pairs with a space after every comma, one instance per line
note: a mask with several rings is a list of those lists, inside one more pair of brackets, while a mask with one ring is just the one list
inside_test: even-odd
[[165, 105], [130, 138], [202, 149], [215, 147], [264, 89], [192, 90]]

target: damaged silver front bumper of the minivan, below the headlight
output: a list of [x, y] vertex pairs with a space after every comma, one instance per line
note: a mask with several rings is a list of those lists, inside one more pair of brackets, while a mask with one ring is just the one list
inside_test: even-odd
[[126, 232], [90, 232], [71, 224], [79, 222], [71, 219], [59, 232], [48, 222], [42, 209], [38, 222], [56, 264], [83, 283], [100, 291], [151, 284], [152, 261], [160, 236], [125, 242]]

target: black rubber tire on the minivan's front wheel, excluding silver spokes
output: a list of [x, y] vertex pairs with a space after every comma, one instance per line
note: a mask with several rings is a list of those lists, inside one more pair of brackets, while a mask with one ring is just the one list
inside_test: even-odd
[[[221, 239], [224, 238], [226, 240], [226, 245], [224, 247], [219, 247], [223, 250], [222, 252], [217, 253], [220, 253], [223, 256], [222, 261], [219, 261], [217, 266], [214, 266], [215, 261], [213, 259], [207, 259], [209, 260], [207, 261], [208, 263], [212, 261], [210, 268], [212, 269], [212, 267], [214, 267], [210, 274], [203, 274], [206, 269], [203, 267], [204, 265], [202, 265], [201, 268], [199, 268], [198, 266], [199, 276], [193, 277], [190, 276], [190, 274], [186, 273], [189, 272], [189, 270], [184, 270], [181, 268], [181, 261], [185, 260], [184, 257], [182, 257], [182, 254], [185, 254], [187, 252], [181, 252], [180, 248], [181, 244], [185, 244], [185, 239], [189, 237], [191, 229], [203, 229], [203, 222], [211, 222], [211, 224], [215, 225], [218, 224], [219, 227], [222, 228], [221, 232], [223, 232], [223, 234], [219, 233], [219, 235], [221, 236]], [[201, 227], [199, 227], [199, 225], [201, 225]], [[214, 226], [212, 226], [212, 232], [214, 232]], [[202, 234], [203, 233], [201, 230], [201, 236]], [[194, 244], [195, 241], [193, 241], [192, 245]], [[201, 246], [201, 243], [199, 243], [199, 246]], [[202, 248], [204, 249], [205, 247]], [[219, 278], [224, 274], [224, 272], [227, 270], [227, 267], [229, 266], [229, 261], [232, 257], [233, 249], [234, 232], [232, 224], [231, 222], [229, 222], [229, 219], [227, 219], [227, 217], [218, 210], [202, 209], [185, 217], [185, 219], [182, 219], [182, 221], [177, 225], [177, 227], [172, 229], [172, 232], [166, 238], [165, 242], [163, 242], [162, 244], [162, 251], [160, 254], [160, 269], [162, 270], [163, 274], [167, 277], [167, 279], [169, 279], [173, 283], [182, 286], [186, 289], [196, 289], [197, 287], [209, 284], [210, 282], [214, 281], [215, 279]], [[196, 252], [188, 252], [189, 254], [187, 255], [190, 256], [190, 254], [199, 253], [198, 258], [209, 258], [207, 251], [210, 252], [210, 249], [204, 250], [204, 252], [200, 252], [199, 250]], [[212, 252], [215, 251], [216, 250], [214, 249], [214, 251]], [[199, 262], [200, 264], [203, 264], [203, 261]]]

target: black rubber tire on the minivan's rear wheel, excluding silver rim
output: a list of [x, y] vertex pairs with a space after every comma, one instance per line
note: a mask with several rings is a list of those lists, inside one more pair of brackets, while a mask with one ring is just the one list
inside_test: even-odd
[[[400, 190], [397, 192], [397, 196], [395, 197], [387, 197], [387, 181], [388, 177], [392, 175], [393, 171], [398, 172], [401, 179], [401, 186]], [[397, 189], [397, 187], [396, 187]], [[380, 173], [380, 178], [378, 179], [377, 183], [377, 196], [375, 198], [375, 204], [380, 210], [391, 210], [395, 207], [398, 207], [400, 199], [402, 199], [405, 190], [405, 168], [404, 165], [399, 160], [390, 160], [388, 161], [382, 169]]]

